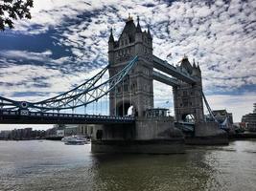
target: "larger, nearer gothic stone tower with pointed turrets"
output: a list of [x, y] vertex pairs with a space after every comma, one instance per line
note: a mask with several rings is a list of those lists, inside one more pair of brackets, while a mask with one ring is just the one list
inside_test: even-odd
[[114, 40], [112, 30], [109, 36], [109, 77], [121, 71], [135, 55], [139, 56], [135, 67], [123, 83], [110, 92], [110, 115], [124, 116], [132, 104], [135, 115], [143, 117], [145, 111], [153, 107], [151, 32], [150, 29], [142, 32], [139, 18], [135, 26], [132, 17], [128, 16], [119, 39]]

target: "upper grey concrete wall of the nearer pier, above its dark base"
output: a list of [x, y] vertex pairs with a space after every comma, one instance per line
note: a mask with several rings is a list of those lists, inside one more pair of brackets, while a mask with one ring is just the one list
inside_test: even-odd
[[103, 140], [183, 138], [182, 132], [175, 128], [173, 117], [139, 117], [133, 125], [95, 125], [93, 139], [97, 139], [98, 130], [103, 132]]

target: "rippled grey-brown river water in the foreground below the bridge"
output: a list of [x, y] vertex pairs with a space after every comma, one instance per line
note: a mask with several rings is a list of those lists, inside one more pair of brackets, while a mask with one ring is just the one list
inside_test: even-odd
[[181, 155], [94, 155], [90, 145], [0, 141], [0, 190], [256, 190], [256, 140]]

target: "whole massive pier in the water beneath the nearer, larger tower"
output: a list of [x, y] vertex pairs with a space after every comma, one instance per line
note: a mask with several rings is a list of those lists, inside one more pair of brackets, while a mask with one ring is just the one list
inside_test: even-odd
[[[101, 138], [99, 134], [102, 135]], [[185, 149], [182, 132], [175, 128], [172, 117], [139, 117], [135, 124], [129, 126], [97, 126], [92, 138], [91, 151], [177, 154], [184, 153]]]

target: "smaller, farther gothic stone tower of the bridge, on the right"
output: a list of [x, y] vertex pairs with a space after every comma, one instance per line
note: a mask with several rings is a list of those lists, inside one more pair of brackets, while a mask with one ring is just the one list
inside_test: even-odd
[[173, 89], [175, 102], [175, 120], [186, 121], [188, 115], [192, 115], [195, 122], [204, 120], [203, 104], [202, 104], [202, 84], [201, 71], [199, 66], [196, 66], [195, 61], [193, 66], [188, 58], [184, 56], [181, 60], [180, 69], [197, 79], [195, 84], [180, 83], [179, 87]]

